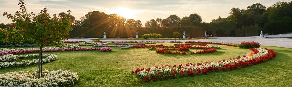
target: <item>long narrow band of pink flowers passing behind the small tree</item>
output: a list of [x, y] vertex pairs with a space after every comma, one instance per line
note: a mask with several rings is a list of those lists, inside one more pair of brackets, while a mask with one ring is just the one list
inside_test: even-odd
[[[43, 52], [54, 52], [54, 51], [91, 51], [91, 50], [98, 50], [100, 51], [101, 48], [44, 48]], [[22, 54], [22, 53], [34, 53], [39, 52], [39, 49], [11, 49], [0, 52], [0, 55], [6, 54]]]

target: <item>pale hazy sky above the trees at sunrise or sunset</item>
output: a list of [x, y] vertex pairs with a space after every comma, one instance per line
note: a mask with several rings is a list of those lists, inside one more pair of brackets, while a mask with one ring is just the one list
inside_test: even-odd
[[[124, 11], [130, 13], [128, 18], [141, 20], [144, 25], [146, 21], [156, 18], [165, 19], [171, 14], [176, 14], [179, 17], [189, 16], [191, 13], [199, 14], [203, 21], [210, 22], [212, 19], [217, 19], [218, 16], [227, 17], [230, 9], [238, 7], [246, 9], [254, 3], [261, 3], [266, 7], [271, 6], [277, 0], [25, 0], [28, 11], [38, 13], [43, 7], [48, 7], [48, 12], [58, 14], [71, 10], [73, 16], [79, 19], [85, 16], [90, 11], [102, 11], [105, 13]], [[278, 0], [280, 2], [286, 0]], [[18, 0], [0, 0], [0, 13], [8, 12], [14, 14], [19, 10]], [[290, 2], [290, 1], [286, 1]], [[122, 8], [124, 11], [117, 11]], [[124, 13], [123, 15], [125, 15]], [[127, 15], [127, 14], [126, 14]], [[0, 15], [0, 22], [10, 23], [11, 20]]]

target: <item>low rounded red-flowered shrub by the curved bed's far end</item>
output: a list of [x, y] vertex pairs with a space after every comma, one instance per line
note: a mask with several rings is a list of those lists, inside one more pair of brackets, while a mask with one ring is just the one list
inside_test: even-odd
[[247, 42], [239, 43], [238, 46], [239, 46], [239, 48], [250, 49], [250, 48], [259, 48], [261, 46], [261, 44], [258, 42], [254, 42], [254, 41], [247, 41]]

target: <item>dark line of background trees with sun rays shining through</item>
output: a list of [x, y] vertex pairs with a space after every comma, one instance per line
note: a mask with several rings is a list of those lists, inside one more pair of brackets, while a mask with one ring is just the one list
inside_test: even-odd
[[[68, 16], [59, 13], [60, 17]], [[100, 11], [88, 12], [79, 20], [74, 16], [73, 30], [70, 37], [135, 37], [149, 33], [159, 33], [163, 37], [172, 37], [173, 32], [182, 33], [186, 37], [212, 36], [258, 36], [260, 31], [268, 34], [282, 34], [292, 32], [292, 2], [276, 2], [266, 8], [260, 3], [247, 6], [246, 9], [232, 8], [226, 18], [202, 22], [199, 14], [193, 13], [185, 17], [173, 14], [165, 19], [156, 18], [144, 24], [140, 20], [128, 19], [117, 14], [106, 14]], [[0, 28], [13, 24], [1, 24]], [[182, 36], [181, 36], [182, 37]]]

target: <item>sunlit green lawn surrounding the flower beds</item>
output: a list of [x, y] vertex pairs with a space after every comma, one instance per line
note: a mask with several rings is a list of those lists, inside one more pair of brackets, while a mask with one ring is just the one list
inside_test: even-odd
[[[157, 43], [172, 45], [173, 43]], [[274, 50], [275, 59], [246, 68], [208, 75], [184, 77], [140, 83], [130, 72], [136, 68], [155, 65], [176, 65], [229, 59], [249, 52], [232, 46], [220, 46], [210, 54], [172, 55], [157, 54], [146, 48], [113, 48], [113, 52], [69, 51], [49, 52], [59, 59], [43, 65], [47, 70], [70, 70], [77, 72], [79, 81], [75, 86], [292, 86], [292, 48], [262, 46]], [[52, 46], [53, 47], [53, 46]], [[37, 70], [37, 65], [0, 69], [0, 73]]]

